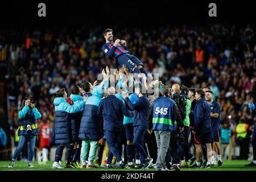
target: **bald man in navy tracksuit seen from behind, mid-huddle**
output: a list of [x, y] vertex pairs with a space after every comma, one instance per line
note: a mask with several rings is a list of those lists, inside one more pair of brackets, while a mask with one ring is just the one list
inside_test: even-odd
[[104, 132], [109, 147], [107, 168], [111, 168], [110, 164], [113, 155], [118, 160], [119, 168], [123, 168], [125, 163], [119, 153], [119, 146], [122, 142], [123, 115], [133, 117], [133, 113], [129, 112], [123, 101], [115, 97], [115, 89], [113, 87], [108, 89], [108, 94], [106, 98], [101, 100], [97, 109], [98, 117], [102, 118], [103, 116], [104, 119]]

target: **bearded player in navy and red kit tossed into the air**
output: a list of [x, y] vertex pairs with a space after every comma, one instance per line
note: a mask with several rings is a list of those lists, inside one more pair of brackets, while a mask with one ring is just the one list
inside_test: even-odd
[[143, 63], [134, 55], [130, 55], [127, 49], [125, 40], [115, 40], [113, 42], [113, 30], [106, 29], [103, 32], [103, 36], [106, 39], [106, 43], [102, 46], [102, 51], [112, 59], [117, 59], [119, 65], [126, 65], [129, 71], [134, 73], [144, 73], [147, 76], [146, 70], [143, 68]]

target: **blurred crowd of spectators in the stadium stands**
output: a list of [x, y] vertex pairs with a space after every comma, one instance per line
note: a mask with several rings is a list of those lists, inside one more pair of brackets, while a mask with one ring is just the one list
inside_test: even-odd
[[[117, 61], [110, 60], [101, 51], [105, 43], [101, 32], [105, 28], [34, 30], [22, 36], [11, 32], [18, 40], [11, 43], [7, 51], [7, 93], [13, 136], [18, 128], [17, 111], [27, 94], [36, 100], [42, 114], [39, 125], [50, 123], [53, 129], [53, 99], [57, 90], [65, 88], [69, 96], [81, 82], [97, 80], [98, 73], [107, 65], [110, 69], [118, 67]], [[113, 28], [113, 31], [115, 38], [126, 40], [129, 51], [143, 62], [148, 73], [159, 73], [163, 84], [171, 87], [178, 83], [188, 88], [209, 86], [213, 99], [221, 106], [223, 129], [235, 133], [241, 119], [252, 129], [255, 118], [247, 104], [256, 100], [253, 28], [215, 24], [154, 30]]]

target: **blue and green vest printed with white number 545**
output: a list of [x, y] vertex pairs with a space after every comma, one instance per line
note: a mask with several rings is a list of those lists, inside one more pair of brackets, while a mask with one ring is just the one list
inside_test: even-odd
[[159, 97], [153, 102], [153, 130], [172, 131], [172, 114], [175, 101], [168, 97]]

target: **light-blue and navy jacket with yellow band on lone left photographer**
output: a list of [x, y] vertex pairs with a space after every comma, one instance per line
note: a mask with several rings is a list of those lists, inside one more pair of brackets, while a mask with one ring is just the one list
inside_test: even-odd
[[[32, 137], [39, 134], [39, 127], [36, 125], [36, 119], [40, 119], [42, 115], [38, 109], [30, 109], [27, 105], [19, 111], [19, 127], [18, 135], [24, 135], [26, 137]], [[27, 124], [30, 124], [32, 133], [27, 133]]]

